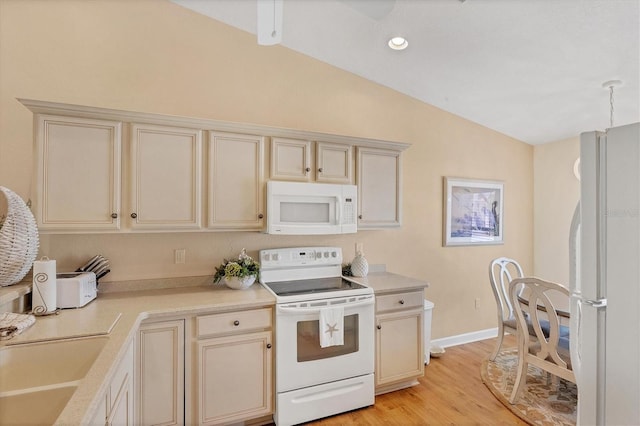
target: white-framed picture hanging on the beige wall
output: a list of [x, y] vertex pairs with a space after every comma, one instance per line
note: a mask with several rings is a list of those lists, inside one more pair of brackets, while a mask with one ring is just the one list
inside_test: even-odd
[[504, 184], [444, 178], [445, 246], [503, 244]]

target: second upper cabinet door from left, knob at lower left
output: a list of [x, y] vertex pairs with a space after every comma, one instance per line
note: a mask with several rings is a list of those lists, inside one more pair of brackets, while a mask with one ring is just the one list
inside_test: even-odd
[[133, 124], [131, 135], [131, 228], [200, 228], [201, 131]]

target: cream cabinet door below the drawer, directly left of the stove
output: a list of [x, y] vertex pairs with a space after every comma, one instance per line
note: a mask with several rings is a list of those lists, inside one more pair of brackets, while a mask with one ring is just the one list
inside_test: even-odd
[[201, 340], [197, 360], [200, 424], [232, 423], [271, 414], [271, 332]]

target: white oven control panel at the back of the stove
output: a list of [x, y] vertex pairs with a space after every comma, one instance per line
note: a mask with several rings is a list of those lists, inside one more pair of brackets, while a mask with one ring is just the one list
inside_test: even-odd
[[260, 250], [263, 269], [300, 265], [341, 265], [340, 247], [293, 247]]

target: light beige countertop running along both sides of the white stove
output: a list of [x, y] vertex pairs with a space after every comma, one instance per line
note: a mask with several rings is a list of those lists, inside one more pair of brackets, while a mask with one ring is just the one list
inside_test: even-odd
[[[429, 285], [425, 281], [389, 272], [375, 272], [364, 278], [350, 278], [372, 287], [377, 294], [423, 289]], [[195, 316], [274, 304], [274, 297], [259, 284], [254, 284], [247, 290], [200, 285], [101, 292], [96, 300], [83, 308], [64, 309], [58, 315], [37, 317], [32, 327], [11, 340], [2, 341], [0, 345], [108, 335], [108, 343], [56, 422], [56, 424], [84, 424], [90, 420], [97, 409], [110, 378], [143, 320]]]

